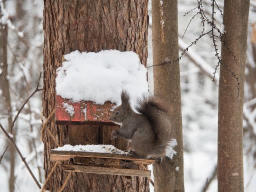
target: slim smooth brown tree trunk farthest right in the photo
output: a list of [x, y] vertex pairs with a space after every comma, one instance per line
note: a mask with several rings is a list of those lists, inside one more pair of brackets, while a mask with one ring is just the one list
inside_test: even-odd
[[249, 0], [224, 2], [218, 122], [218, 191], [244, 191], [243, 98]]

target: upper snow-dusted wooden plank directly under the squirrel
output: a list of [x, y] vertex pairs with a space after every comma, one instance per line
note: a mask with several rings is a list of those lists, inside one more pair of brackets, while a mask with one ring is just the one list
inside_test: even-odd
[[155, 162], [154, 159], [143, 159], [135, 158], [131, 155], [121, 155], [121, 154], [109, 154], [109, 153], [94, 153], [86, 151], [58, 151], [51, 150], [51, 161], [66, 161], [74, 157], [95, 157], [95, 158], [113, 158], [113, 159], [123, 159], [131, 161], [136, 164], [152, 164]]

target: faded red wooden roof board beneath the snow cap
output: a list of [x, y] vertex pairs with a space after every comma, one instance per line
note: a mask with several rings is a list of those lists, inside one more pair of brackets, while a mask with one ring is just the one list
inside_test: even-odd
[[[63, 103], [74, 108], [74, 114], [70, 115]], [[92, 101], [73, 102], [56, 95], [55, 102], [55, 123], [57, 125], [108, 125], [115, 126], [109, 120], [110, 110], [114, 107], [111, 102], [104, 105], [96, 105]]]

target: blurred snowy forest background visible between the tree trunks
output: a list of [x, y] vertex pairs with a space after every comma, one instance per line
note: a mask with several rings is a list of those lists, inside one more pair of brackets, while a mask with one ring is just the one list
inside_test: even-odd
[[[223, 1], [217, 3], [220, 10], [223, 10]], [[6, 77], [0, 76], [0, 123], [7, 132], [12, 133], [36, 178], [44, 183], [43, 142], [40, 140], [42, 119], [45, 118], [41, 112], [40, 76], [43, 72], [43, 2], [0, 0], [0, 4], [2, 23], [7, 23], [7, 28], [3, 30], [1, 27], [0, 31], [0, 65], [1, 70], [8, 71]], [[202, 5], [204, 13], [211, 18], [211, 1], [203, 1]], [[194, 42], [203, 30], [197, 6], [196, 0], [178, 1], [180, 53]], [[192, 11], [189, 12], [190, 10]], [[149, 15], [151, 17], [150, 1]], [[251, 0], [244, 93], [244, 187], [248, 192], [255, 190], [256, 183], [255, 22], [256, 1]], [[216, 11], [215, 23], [219, 29], [223, 29], [220, 11]], [[217, 44], [220, 47], [218, 40]], [[148, 47], [148, 66], [151, 66], [151, 18]], [[204, 191], [206, 180], [209, 183], [207, 191], [217, 191], [218, 69], [215, 81], [212, 81], [217, 63], [212, 39], [208, 35], [191, 46], [180, 60], [186, 191]], [[154, 86], [152, 70], [153, 68], [148, 68], [150, 91]], [[33, 96], [27, 100], [31, 94]], [[15, 149], [9, 147], [9, 140], [2, 131], [0, 144], [0, 191], [8, 191], [9, 183], [15, 191], [36, 191], [35, 182]], [[150, 189], [153, 189], [153, 186]]]

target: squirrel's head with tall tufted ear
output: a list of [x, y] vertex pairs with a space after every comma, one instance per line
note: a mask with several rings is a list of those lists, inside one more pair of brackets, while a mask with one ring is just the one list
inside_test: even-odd
[[121, 101], [121, 106], [118, 106], [109, 116], [109, 119], [117, 124], [122, 123], [125, 117], [127, 117], [132, 110], [130, 105], [130, 96], [126, 91], [122, 91]]

